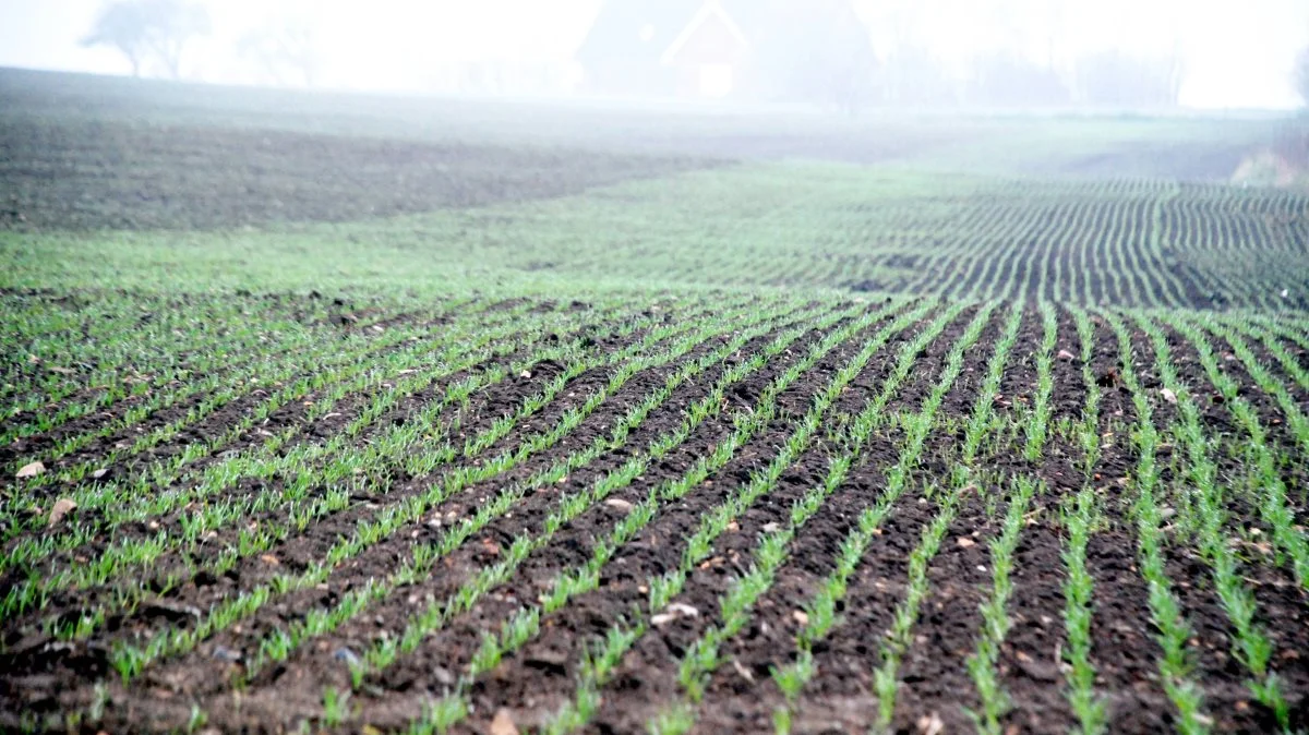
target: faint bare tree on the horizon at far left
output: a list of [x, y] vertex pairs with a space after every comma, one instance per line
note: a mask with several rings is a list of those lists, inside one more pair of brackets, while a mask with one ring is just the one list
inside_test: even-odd
[[209, 33], [203, 5], [181, 0], [117, 0], [105, 5], [82, 46], [113, 46], [127, 58], [132, 75], [147, 61], [158, 61], [168, 76], [181, 78], [182, 52]]

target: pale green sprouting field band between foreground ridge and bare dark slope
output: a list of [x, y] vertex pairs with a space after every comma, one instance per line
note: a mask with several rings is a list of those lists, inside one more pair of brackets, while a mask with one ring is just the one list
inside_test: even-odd
[[[534, 175], [542, 180], [517, 179], [521, 190], [512, 201], [449, 204], [407, 217], [217, 233], [0, 238], [12, 243], [10, 284], [27, 288], [168, 289], [181, 281], [247, 290], [302, 290], [313, 284], [385, 292], [387, 285], [440, 290], [473, 279], [1309, 309], [1309, 195], [830, 163], [747, 163], [651, 178], [658, 166], [678, 162], [644, 165], [618, 160], [609, 171], [541, 169]], [[572, 182], [571, 173], [577, 175]], [[572, 195], [559, 191], [583, 187], [602, 173], [641, 180]], [[503, 191], [497, 187], [508, 186], [488, 183], [495, 175], [490, 167], [467, 178], [452, 173], [444, 190], [425, 196], [432, 201], [467, 186], [474, 201], [492, 199]], [[352, 187], [338, 179], [326, 184], [330, 190], [291, 186], [304, 187], [306, 197], [295, 204], [300, 213], [348, 200]], [[194, 203], [200, 211], [194, 217], [203, 218], [207, 208], [240, 201], [195, 196], [165, 205], [185, 209]], [[357, 199], [385, 196], [364, 188]]]

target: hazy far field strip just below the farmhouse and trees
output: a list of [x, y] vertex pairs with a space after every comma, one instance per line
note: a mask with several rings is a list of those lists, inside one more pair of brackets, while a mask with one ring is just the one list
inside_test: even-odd
[[[0, 69], [5, 124], [215, 127], [435, 144], [716, 158], [901, 162], [942, 171], [1227, 180], [1268, 145], [1270, 115], [870, 112], [350, 95], [140, 82]], [[128, 131], [130, 133], [130, 131]], [[114, 132], [114, 135], [128, 135]], [[110, 137], [110, 143], [114, 140]], [[97, 145], [89, 141], [89, 145]], [[348, 154], [348, 150], [343, 150]]]

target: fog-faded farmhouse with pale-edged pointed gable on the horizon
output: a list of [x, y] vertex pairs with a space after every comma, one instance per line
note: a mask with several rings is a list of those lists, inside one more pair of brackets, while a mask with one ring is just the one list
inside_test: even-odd
[[584, 88], [618, 97], [720, 99], [759, 89], [759, 0], [609, 0], [577, 51]]

